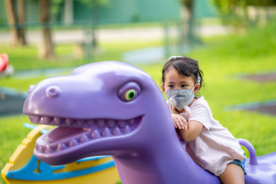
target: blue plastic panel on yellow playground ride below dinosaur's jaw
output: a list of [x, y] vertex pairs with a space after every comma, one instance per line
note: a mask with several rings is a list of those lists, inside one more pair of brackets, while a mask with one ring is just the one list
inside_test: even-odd
[[[103, 157], [108, 157], [108, 156], [97, 156], [97, 157], [95, 156], [95, 158], [89, 157], [86, 159], [81, 159], [79, 160], [79, 162], [101, 159]], [[22, 167], [20, 170], [7, 172], [6, 177], [21, 179], [21, 180], [30, 180], [30, 181], [57, 180], [57, 179], [63, 179], [63, 178], [82, 176], [84, 174], [92, 174], [94, 172], [99, 172], [101, 170], [106, 170], [110, 167], [115, 166], [114, 161], [108, 161], [101, 165], [89, 167], [83, 170], [53, 173], [53, 171], [55, 170], [63, 169], [65, 165], [52, 166], [47, 163], [44, 163], [43, 161], [40, 161], [39, 165], [37, 165], [38, 163], [37, 161], [38, 161], [37, 157], [32, 156], [29, 163], [25, 167]], [[34, 172], [34, 170], [36, 170], [37, 167], [40, 172]]]

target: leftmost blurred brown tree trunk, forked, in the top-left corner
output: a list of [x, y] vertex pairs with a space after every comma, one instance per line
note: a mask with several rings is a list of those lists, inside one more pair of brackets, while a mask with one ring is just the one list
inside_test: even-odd
[[[25, 36], [25, 1], [6, 0], [6, 14], [11, 28], [11, 45], [26, 45]], [[17, 6], [17, 10], [16, 10]]]

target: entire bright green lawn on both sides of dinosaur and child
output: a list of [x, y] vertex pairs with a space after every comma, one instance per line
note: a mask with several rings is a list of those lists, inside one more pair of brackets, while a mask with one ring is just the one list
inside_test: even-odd
[[[215, 119], [228, 128], [237, 138], [244, 138], [253, 143], [257, 155], [276, 151], [276, 116], [256, 112], [234, 111], [226, 112], [225, 105], [276, 99], [276, 83], [258, 83], [241, 80], [241, 73], [254, 74], [262, 71], [275, 72], [276, 68], [276, 24], [271, 24], [261, 30], [251, 30], [244, 35], [228, 35], [206, 40], [206, 44], [193, 52], [189, 57], [199, 61], [199, 67], [204, 71], [204, 88], [201, 94], [208, 101]], [[121, 53], [126, 50], [160, 45], [161, 41], [149, 43], [103, 43], [102, 53], [95, 61], [121, 60]], [[48, 68], [57, 66], [80, 65], [83, 61], [67, 61], [68, 52], [73, 45], [60, 46], [57, 61], [39, 61], [36, 58], [36, 48], [10, 49], [3, 47], [10, 55], [11, 63], [16, 69]], [[1, 47], [2, 50], [2, 47]], [[64, 61], [63, 61], [64, 59]], [[39, 62], [39, 63], [37, 63]], [[150, 65], [139, 65], [160, 84], [161, 68], [164, 62]], [[30, 84], [35, 84], [45, 77], [34, 79], [0, 79], [1, 86], [27, 90]], [[4, 116], [0, 118], [0, 168], [17, 145], [27, 135], [29, 130], [22, 126], [29, 122], [27, 116]], [[245, 150], [245, 149], [244, 149]], [[246, 152], [248, 156], [248, 152]]]

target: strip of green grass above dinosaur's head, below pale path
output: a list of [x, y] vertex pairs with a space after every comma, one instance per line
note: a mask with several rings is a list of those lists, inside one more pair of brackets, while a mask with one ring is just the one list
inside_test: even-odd
[[93, 61], [115, 60], [121, 61], [122, 52], [135, 50], [139, 48], [154, 47], [161, 45], [161, 41], [126, 41], [124, 43], [99, 43], [99, 49], [91, 59], [75, 59], [74, 52], [76, 45], [56, 45], [56, 59], [38, 59], [38, 48], [34, 45], [26, 47], [10, 47], [8, 45], [0, 45], [0, 53], [8, 54], [10, 65], [13, 65], [15, 70], [30, 70], [37, 68], [57, 68], [57, 67], [72, 67], [90, 63]]

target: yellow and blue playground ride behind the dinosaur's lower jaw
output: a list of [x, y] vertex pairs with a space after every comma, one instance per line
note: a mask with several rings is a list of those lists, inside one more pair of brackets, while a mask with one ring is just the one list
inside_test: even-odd
[[[25, 124], [25, 126], [34, 126]], [[33, 127], [32, 127], [33, 128]], [[52, 129], [49, 125], [34, 126], [10, 157], [2, 170], [7, 183], [117, 183], [119, 174], [110, 156], [93, 156], [67, 165], [52, 166], [39, 161], [32, 152], [41, 134]]]

